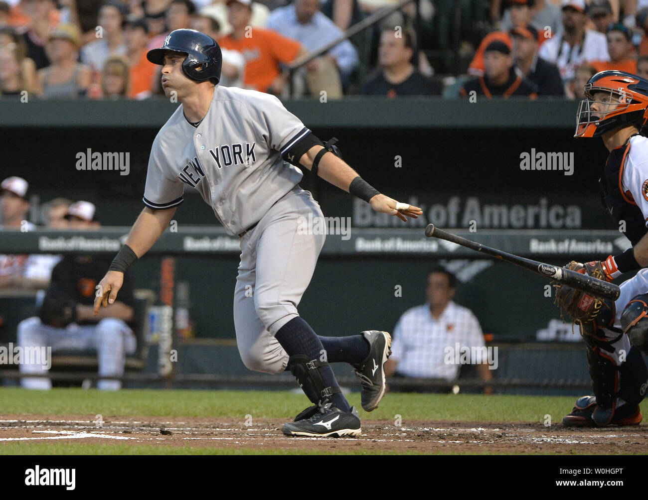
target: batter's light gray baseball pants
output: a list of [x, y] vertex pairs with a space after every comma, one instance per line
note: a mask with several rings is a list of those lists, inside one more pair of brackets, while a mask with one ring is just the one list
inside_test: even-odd
[[274, 335], [299, 316], [297, 305], [326, 238], [315, 225], [323, 220], [310, 192], [295, 187], [240, 238], [234, 324], [238, 352], [250, 370], [275, 374], [288, 365]]

